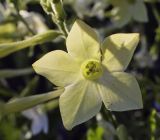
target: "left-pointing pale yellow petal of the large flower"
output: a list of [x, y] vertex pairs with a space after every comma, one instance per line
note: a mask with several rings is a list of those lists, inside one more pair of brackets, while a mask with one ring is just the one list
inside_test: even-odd
[[57, 86], [71, 84], [79, 76], [80, 64], [64, 51], [52, 51], [33, 64], [34, 70]]

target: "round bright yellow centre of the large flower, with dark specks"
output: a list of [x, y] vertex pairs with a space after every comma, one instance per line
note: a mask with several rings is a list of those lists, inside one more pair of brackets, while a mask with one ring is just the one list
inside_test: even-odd
[[81, 65], [82, 74], [86, 79], [95, 80], [102, 75], [102, 65], [97, 60], [87, 60]]

